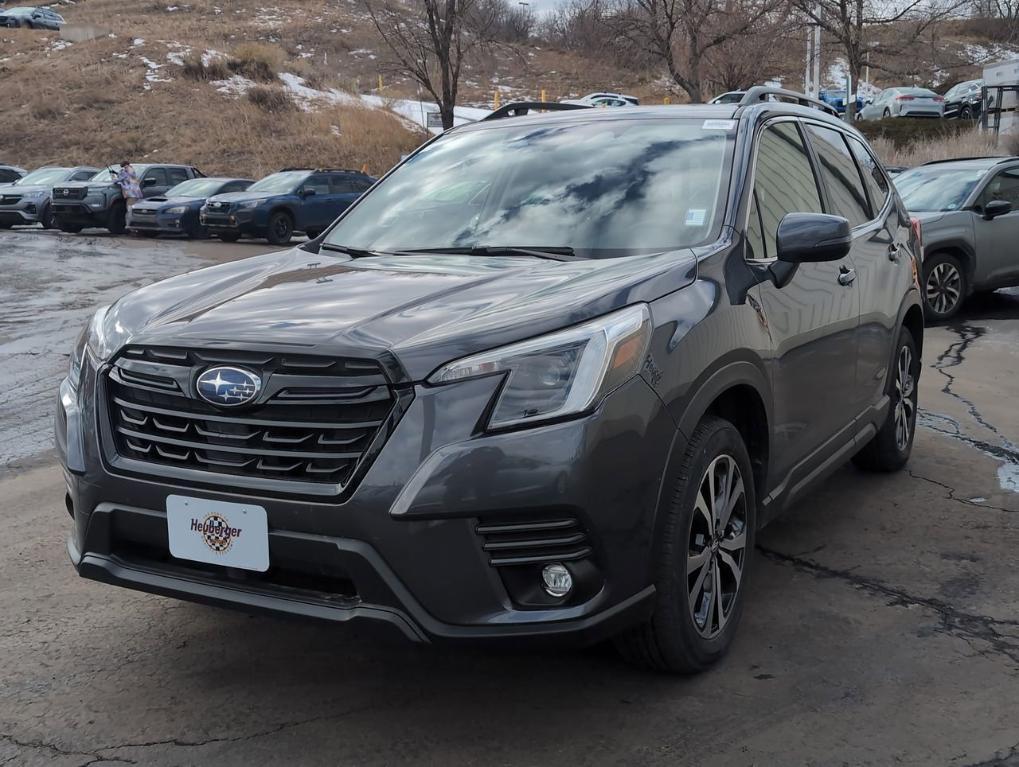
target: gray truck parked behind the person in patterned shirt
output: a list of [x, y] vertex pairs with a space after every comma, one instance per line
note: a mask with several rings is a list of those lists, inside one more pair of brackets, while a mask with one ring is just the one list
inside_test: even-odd
[[[104, 168], [88, 181], [69, 181], [53, 188], [54, 223], [61, 231], [78, 232], [89, 227], [123, 234], [127, 206], [120, 187], [113, 183], [119, 168]], [[191, 165], [135, 165], [145, 199], [164, 195], [172, 186], [202, 173]]]

